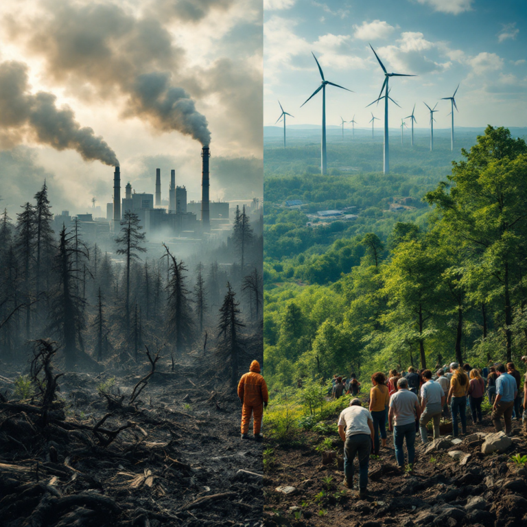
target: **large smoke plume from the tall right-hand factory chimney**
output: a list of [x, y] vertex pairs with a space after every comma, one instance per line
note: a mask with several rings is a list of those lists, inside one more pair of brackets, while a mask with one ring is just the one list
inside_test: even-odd
[[[196, 8], [205, 10], [208, 3], [200, 0]], [[183, 9], [187, 3], [175, 5]], [[173, 45], [159, 20], [137, 19], [110, 4], [59, 1], [52, 7], [41, 19], [21, 23], [10, 18], [5, 23], [12, 38], [26, 40], [32, 53], [45, 58], [47, 71], [56, 80], [84, 91], [89, 86], [94, 97], [125, 95], [126, 117], [139, 117], [158, 130], [177, 130], [209, 144], [207, 119], [172, 79], [171, 72], [183, 67], [185, 51]]]

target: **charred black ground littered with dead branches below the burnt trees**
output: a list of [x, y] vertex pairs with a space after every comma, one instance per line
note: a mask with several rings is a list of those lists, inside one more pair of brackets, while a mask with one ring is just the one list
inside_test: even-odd
[[159, 360], [134, 406], [148, 361], [129, 373], [65, 373], [64, 402], [46, 416], [38, 401], [10, 397], [23, 372], [2, 366], [1, 526], [260, 525], [261, 443], [240, 440], [239, 400], [200, 362], [189, 355], [172, 372]]

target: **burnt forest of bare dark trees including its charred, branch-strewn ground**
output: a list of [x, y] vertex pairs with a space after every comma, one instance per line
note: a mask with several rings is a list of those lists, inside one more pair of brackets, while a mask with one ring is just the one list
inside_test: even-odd
[[[57, 228], [44, 184], [0, 221], [0, 524], [254, 526], [262, 447], [239, 377], [262, 351], [262, 237], [104, 246]], [[261, 220], [260, 220], [261, 222]]]

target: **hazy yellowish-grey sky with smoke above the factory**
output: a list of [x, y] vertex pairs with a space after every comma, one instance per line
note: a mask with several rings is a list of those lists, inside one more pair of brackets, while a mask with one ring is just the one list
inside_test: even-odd
[[0, 206], [46, 177], [54, 212], [106, 211], [115, 157], [123, 195], [153, 193], [161, 167], [163, 198], [174, 168], [199, 199], [209, 132], [211, 198], [261, 196], [261, 16], [261, 0], [4, 0]]

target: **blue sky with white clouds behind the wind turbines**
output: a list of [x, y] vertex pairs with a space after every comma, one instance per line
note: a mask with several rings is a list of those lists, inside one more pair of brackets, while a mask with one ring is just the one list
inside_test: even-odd
[[[320, 83], [311, 51], [329, 86], [327, 123], [356, 115], [368, 126], [365, 108], [384, 75], [368, 43], [388, 71], [416, 78], [390, 81], [390, 127], [417, 104], [417, 127], [428, 110], [456, 86], [456, 126], [527, 126], [527, 2], [524, 0], [264, 0], [264, 125], [279, 117], [277, 99], [295, 116], [288, 124], [320, 124], [321, 94], [301, 104]], [[450, 104], [439, 101], [438, 128], [449, 126]]]

